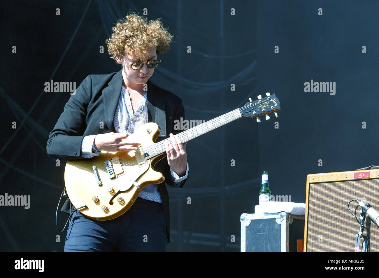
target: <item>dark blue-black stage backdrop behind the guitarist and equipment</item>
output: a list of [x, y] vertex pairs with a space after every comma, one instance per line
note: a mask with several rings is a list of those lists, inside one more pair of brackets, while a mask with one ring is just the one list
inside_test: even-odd
[[[0, 195], [30, 202], [0, 206], [0, 251], [63, 251], [55, 210], [65, 161], [49, 158], [46, 142], [70, 92], [45, 92], [45, 82], [78, 87], [119, 71], [105, 44], [117, 19], [147, 13], [168, 26], [174, 42], [152, 81], [182, 98], [188, 120], [265, 92], [280, 99], [279, 118], [241, 118], [190, 141], [188, 181], [169, 188], [168, 251], [239, 252], [240, 215], [254, 213], [262, 171], [274, 196], [302, 203], [307, 174], [379, 163], [378, 11], [377, 1], [3, 4]], [[306, 92], [305, 82], [332, 86]], [[58, 213], [60, 227], [66, 219]]]

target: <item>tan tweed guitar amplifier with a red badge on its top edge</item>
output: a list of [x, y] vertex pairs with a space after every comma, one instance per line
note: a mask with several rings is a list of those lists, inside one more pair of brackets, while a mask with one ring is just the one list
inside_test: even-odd
[[[304, 252], [354, 252], [360, 221], [349, 213], [351, 199], [379, 211], [379, 169], [307, 175]], [[349, 208], [360, 216], [356, 201]], [[379, 227], [367, 215], [364, 225], [367, 251], [379, 252]]]

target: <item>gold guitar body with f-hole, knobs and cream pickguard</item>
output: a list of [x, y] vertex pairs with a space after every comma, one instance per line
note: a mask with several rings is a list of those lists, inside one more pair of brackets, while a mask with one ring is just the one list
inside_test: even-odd
[[102, 151], [90, 159], [67, 161], [64, 181], [74, 207], [92, 219], [113, 219], [132, 207], [144, 186], [163, 182], [153, 167], [166, 155], [143, 156], [144, 147], [154, 144], [159, 134], [157, 124], [146, 123], [128, 137], [141, 143], [138, 151]]

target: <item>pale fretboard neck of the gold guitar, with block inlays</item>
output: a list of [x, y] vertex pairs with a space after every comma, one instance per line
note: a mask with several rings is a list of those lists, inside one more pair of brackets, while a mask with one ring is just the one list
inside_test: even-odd
[[[180, 139], [180, 141], [182, 141], [182, 143], [185, 143], [238, 118], [241, 118], [241, 112], [240, 109], [235, 109], [210, 121], [180, 132], [179, 134], [176, 134], [176, 136]], [[158, 143], [148, 146], [147, 148], [144, 148], [145, 157], [152, 158], [166, 152], [166, 142], [171, 143], [171, 138], [164, 139]]]

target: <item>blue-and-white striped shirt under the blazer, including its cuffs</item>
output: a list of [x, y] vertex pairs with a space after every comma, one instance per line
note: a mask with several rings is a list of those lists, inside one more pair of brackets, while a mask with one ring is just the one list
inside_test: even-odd
[[[135, 129], [138, 129], [138, 127], [147, 123], [147, 111], [147, 93], [139, 99], [139, 107], [136, 112], [133, 113], [129, 92], [124, 86], [122, 86], [117, 109], [113, 118], [113, 125], [116, 132], [128, 132], [128, 134], [133, 134]], [[81, 157], [91, 158], [95, 155], [99, 155], [100, 152], [94, 147], [95, 136], [96, 135], [89, 135], [83, 138], [81, 143]], [[188, 163], [187, 171], [183, 177], [179, 177], [174, 171], [172, 171], [171, 167], [170, 171], [172, 180], [174, 180], [174, 183], [179, 186], [188, 176]], [[138, 196], [146, 200], [162, 203], [161, 194], [159, 193], [158, 185], [156, 184], [146, 185]]]

